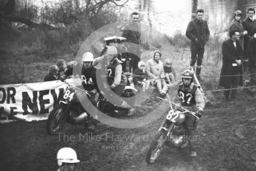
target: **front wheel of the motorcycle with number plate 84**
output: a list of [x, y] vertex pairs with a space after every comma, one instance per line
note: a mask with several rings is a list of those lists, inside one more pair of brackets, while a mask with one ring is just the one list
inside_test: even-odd
[[46, 132], [58, 134], [64, 128], [64, 108], [61, 105], [54, 107], [48, 116]]

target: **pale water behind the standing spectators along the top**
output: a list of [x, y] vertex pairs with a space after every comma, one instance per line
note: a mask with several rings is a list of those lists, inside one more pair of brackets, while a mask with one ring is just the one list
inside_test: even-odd
[[[55, 4], [61, 0], [19, 0], [19, 4], [26, 2], [43, 6]], [[66, 0], [72, 3], [84, 5], [84, 0]], [[230, 24], [232, 14], [240, 9], [243, 12], [242, 18], [246, 17], [246, 9], [254, 7], [255, 0], [129, 0], [125, 7], [120, 11], [122, 15], [129, 15], [133, 11], [138, 11], [142, 15], [142, 23], [157, 28], [158, 31], [173, 35], [177, 31], [184, 34], [192, 12], [202, 8], [205, 10], [205, 19], [208, 20], [208, 26], [211, 35], [218, 35], [225, 32]]]

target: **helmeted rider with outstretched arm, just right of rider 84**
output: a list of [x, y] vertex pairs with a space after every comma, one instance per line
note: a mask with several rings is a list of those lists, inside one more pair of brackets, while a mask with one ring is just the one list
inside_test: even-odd
[[[117, 58], [117, 55], [117, 48], [114, 46], [109, 46], [106, 55], [100, 56], [99, 58], [94, 58], [93, 65], [96, 66], [97, 64], [105, 64], [108, 85], [116, 95], [121, 96], [124, 93], [125, 86], [127, 86], [127, 77], [122, 71], [122, 61]], [[118, 106], [129, 108], [128, 115], [134, 114], [134, 108], [130, 107], [127, 102], [120, 99], [113, 100], [116, 101], [115, 103], [118, 104]]]

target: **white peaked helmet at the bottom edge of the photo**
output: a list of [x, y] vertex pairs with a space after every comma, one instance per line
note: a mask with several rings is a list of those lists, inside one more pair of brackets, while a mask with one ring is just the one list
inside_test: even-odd
[[77, 153], [72, 148], [61, 148], [57, 153], [58, 165], [61, 166], [62, 163], [79, 163]]

